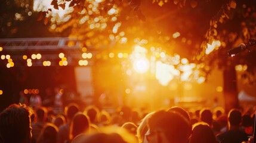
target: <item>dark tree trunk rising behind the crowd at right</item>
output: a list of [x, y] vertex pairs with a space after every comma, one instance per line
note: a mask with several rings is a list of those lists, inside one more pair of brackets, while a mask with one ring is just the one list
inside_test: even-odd
[[235, 66], [227, 67], [223, 73], [224, 78], [224, 104], [225, 111], [228, 113], [232, 108], [239, 108], [238, 88], [236, 85]]

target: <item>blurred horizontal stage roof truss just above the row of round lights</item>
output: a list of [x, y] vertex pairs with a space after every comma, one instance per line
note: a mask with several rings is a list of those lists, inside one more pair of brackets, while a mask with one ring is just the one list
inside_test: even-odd
[[[84, 48], [83, 41], [76, 38], [11, 38], [0, 39], [1, 55], [10, 55], [15, 66], [23, 66], [22, 63], [31, 58], [32, 54], [41, 54], [41, 60], [33, 60], [33, 66], [43, 66], [42, 61], [51, 61], [51, 66], [58, 66], [61, 58], [58, 56], [60, 52], [64, 53], [64, 57], [69, 66], [78, 65], [78, 61], [82, 59], [82, 50]], [[87, 52], [88, 49], [86, 49]], [[90, 52], [95, 52], [90, 49]], [[2, 58], [2, 62], [7, 58]], [[88, 60], [88, 59], [87, 59]], [[23, 62], [22, 62], [23, 61]], [[91, 60], [88, 60], [90, 66]]]

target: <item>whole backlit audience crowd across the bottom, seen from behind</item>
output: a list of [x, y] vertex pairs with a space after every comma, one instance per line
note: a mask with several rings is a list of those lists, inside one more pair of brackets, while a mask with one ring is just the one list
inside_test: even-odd
[[51, 107], [11, 104], [0, 113], [5, 143], [241, 143], [252, 141], [254, 108], [147, 111], [120, 107], [114, 112], [72, 102]]

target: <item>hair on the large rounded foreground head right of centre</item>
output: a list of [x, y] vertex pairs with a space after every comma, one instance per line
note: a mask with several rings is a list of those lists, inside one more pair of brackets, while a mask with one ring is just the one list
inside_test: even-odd
[[149, 130], [159, 129], [169, 142], [187, 142], [191, 133], [189, 121], [179, 113], [156, 111], [147, 120]]

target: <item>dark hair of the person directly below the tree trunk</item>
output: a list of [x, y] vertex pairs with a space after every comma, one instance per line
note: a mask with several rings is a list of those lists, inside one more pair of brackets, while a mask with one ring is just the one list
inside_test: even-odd
[[230, 125], [239, 126], [242, 120], [242, 113], [239, 109], [233, 108], [229, 111], [228, 117]]

